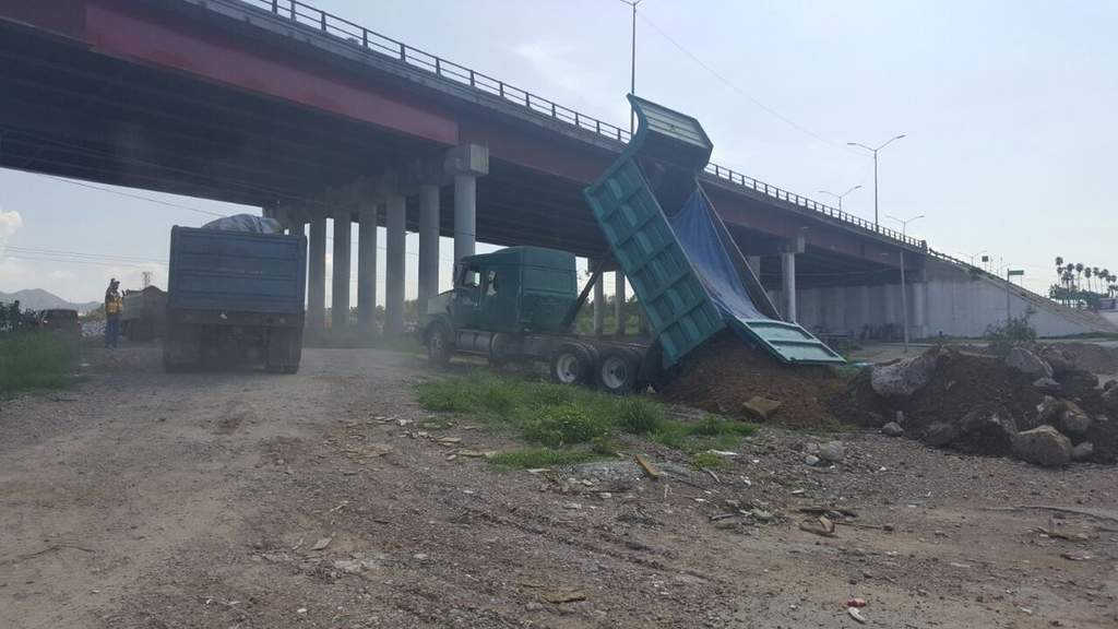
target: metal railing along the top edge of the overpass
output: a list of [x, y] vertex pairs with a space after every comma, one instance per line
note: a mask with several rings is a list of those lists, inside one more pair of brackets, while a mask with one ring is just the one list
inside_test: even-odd
[[[402, 41], [392, 39], [391, 37], [387, 37], [373, 30], [369, 30], [361, 25], [311, 7], [300, 0], [241, 1], [247, 4], [265, 9], [276, 16], [290, 19], [302, 27], [337, 37], [352, 44], [353, 46], [390, 57], [414, 68], [429, 72], [438, 77], [470, 86], [474, 90], [496, 96], [508, 103], [525, 107], [537, 114], [551, 118], [559, 122], [574, 125], [584, 131], [588, 131], [617, 142], [627, 142], [629, 140], [629, 132], [620, 126], [579, 113], [570, 107], [560, 105], [555, 101], [549, 101], [542, 96], [532, 94], [527, 90], [521, 90], [520, 87], [510, 85], [503, 81], [493, 78], [492, 76], [467, 68], [454, 62], [444, 59], [437, 55], [408, 46]], [[922, 251], [928, 250], [926, 241], [913, 238], [896, 229], [874, 225], [864, 218], [859, 218], [858, 216], [847, 214], [826, 204], [802, 197], [776, 186], [770, 186], [764, 181], [758, 181], [752, 177], [736, 172], [729, 168], [711, 163], [707, 166], [707, 173], [742, 188], [758, 191], [768, 197], [816, 212], [847, 226], [859, 227], [866, 232], [884, 236], [915, 248]]]

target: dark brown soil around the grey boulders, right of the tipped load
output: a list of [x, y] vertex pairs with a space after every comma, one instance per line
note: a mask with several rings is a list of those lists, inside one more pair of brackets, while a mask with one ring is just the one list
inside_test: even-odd
[[[907, 436], [930, 445], [987, 456], [1007, 456], [1017, 432], [1050, 424], [1073, 445], [1091, 443], [1093, 454], [1088, 460], [1112, 463], [1118, 459], [1118, 422], [1107, 416], [1103, 391], [1093, 374], [1078, 368], [1058, 370], [1045, 391], [1035, 376], [1014, 370], [989, 354], [935, 348], [928, 355], [935, 357], [935, 369], [911, 395], [879, 395], [866, 372], [832, 397], [830, 409], [846, 423], [881, 428], [896, 421]], [[1044, 416], [1042, 403], [1059, 409], [1070, 403], [1090, 417], [1090, 428], [1064, 430], [1059, 413]]]

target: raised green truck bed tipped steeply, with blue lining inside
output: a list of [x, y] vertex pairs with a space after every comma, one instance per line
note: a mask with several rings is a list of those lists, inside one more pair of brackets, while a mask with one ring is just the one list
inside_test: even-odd
[[807, 330], [780, 320], [746, 264], [695, 177], [713, 148], [699, 122], [629, 101], [639, 130], [585, 197], [647, 313], [663, 366], [727, 327], [785, 363], [843, 363]]

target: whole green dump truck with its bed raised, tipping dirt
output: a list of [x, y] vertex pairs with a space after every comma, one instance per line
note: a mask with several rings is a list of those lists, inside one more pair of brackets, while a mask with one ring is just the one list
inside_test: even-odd
[[463, 259], [454, 288], [429, 300], [423, 327], [429, 358], [543, 362], [560, 383], [612, 393], [664, 382], [726, 329], [784, 363], [843, 363], [780, 319], [746, 264], [697, 179], [713, 148], [699, 122], [629, 100], [639, 129], [584, 196], [644, 309], [651, 341], [575, 335], [575, 317], [600, 270], [579, 292], [572, 253], [509, 247]]

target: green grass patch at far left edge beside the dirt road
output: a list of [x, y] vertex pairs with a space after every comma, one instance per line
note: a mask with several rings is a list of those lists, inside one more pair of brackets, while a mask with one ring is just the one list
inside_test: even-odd
[[63, 388], [74, 344], [51, 332], [0, 337], [0, 393]]

